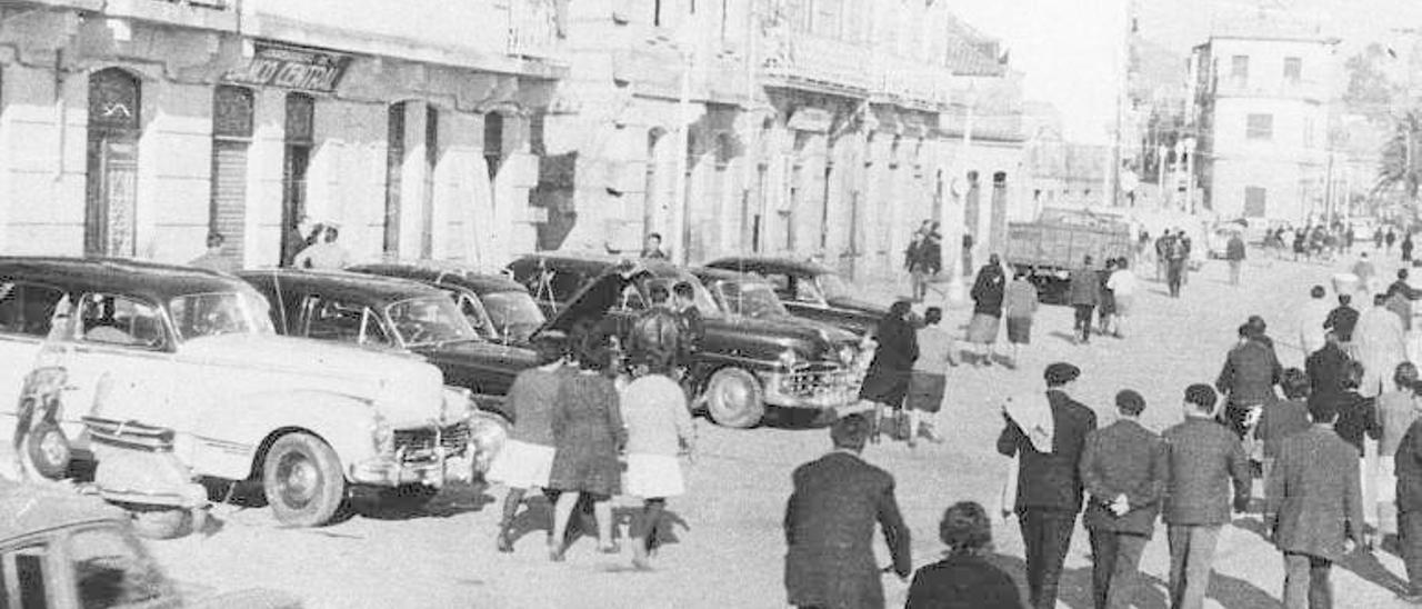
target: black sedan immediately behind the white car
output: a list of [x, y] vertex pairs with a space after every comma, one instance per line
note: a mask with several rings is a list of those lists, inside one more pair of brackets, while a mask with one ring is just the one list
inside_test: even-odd
[[445, 384], [505, 415], [513, 377], [538, 366], [538, 353], [479, 336], [448, 292], [419, 282], [296, 269], [237, 276], [272, 303], [279, 333], [421, 354], [444, 371]]

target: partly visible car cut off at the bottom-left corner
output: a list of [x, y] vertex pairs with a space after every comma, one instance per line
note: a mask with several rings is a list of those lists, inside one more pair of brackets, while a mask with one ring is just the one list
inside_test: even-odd
[[193, 593], [168, 579], [128, 515], [73, 491], [0, 481], [0, 606], [287, 609], [267, 589]]

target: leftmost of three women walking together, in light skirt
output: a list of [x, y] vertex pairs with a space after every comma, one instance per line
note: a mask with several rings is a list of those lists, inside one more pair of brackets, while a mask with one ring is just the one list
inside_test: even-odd
[[[485, 478], [508, 487], [503, 514], [499, 519], [496, 546], [499, 552], [513, 552], [513, 524], [529, 489], [547, 492], [556, 504], [556, 492], [549, 485], [553, 474], [553, 408], [562, 380], [569, 370], [563, 366], [563, 347], [553, 340], [538, 340], [535, 347], [539, 366], [513, 377], [503, 406], [513, 417], [503, 448], [493, 457]], [[549, 522], [549, 531], [553, 524]]]

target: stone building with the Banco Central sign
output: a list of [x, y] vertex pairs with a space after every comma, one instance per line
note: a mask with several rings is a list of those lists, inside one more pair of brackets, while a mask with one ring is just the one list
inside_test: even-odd
[[535, 221], [557, 0], [0, 3], [0, 252], [495, 259]]

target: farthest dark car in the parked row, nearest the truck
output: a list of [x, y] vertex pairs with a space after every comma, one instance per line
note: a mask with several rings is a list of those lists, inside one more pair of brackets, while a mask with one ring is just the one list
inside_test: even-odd
[[711, 269], [754, 273], [775, 286], [785, 309], [799, 317], [843, 327], [855, 334], [873, 333], [887, 307], [856, 297], [839, 273], [815, 262], [769, 256], [731, 256], [711, 260]]

